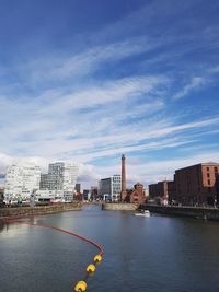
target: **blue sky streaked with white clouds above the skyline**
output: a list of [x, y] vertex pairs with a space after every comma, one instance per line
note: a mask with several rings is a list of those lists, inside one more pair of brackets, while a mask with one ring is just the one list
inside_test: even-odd
[[219, 162], [217, 0], [0, 0], [0, 178], [80, 165], [82, 186]]

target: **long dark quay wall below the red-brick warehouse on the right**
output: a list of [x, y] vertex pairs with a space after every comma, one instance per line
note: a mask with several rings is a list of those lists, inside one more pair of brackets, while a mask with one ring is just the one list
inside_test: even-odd
[[141, 205], [139, 206], [139, 209], [149, 210], [152, 213], [164, 215], [181, 215], [219, 221], [219, 209], [217, 208]]

